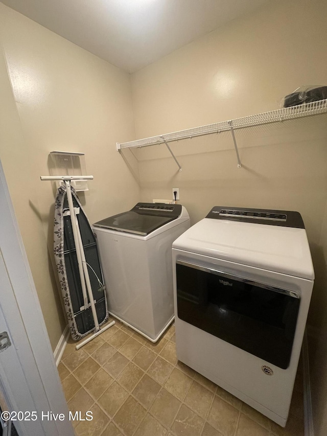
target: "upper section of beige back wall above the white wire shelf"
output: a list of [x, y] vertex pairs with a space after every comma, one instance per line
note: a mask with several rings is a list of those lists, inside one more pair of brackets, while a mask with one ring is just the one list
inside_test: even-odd
[[325, 0], [276, 0], [132, 74], [136, 137], [279, 107], [326, 82]]

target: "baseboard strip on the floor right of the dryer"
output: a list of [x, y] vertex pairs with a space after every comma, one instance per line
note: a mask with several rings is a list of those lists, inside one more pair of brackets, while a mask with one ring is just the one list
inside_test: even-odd
[[303, 337], [303, 343], [302, 343], [302, 364], [303, 364], [303, 411], [304, 411], [304, 421], [305, 421], [305, 436], [314, 436], [307, 330], [305, 331], [305, 335]]

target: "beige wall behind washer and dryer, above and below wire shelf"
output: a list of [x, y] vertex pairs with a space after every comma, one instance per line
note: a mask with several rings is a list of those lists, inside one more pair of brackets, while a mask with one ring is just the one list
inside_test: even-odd
[[[326, 22], [325, 1], [270, 2], [134, 73], [136, 137], [276, 109], [300, 85], [327, 84]], [[177, 187], [193, 223], [214, 205], [302, 214], [316, 273], [309, 314], [316, 340], [327, 336], [326, 121], [324, 114], [237, 130], [241, 169], [228, 132], [171, 143], [182, 172], [165, 146], [133, 151], [142, 200], [171, 198]], [[322, 435], [327, 409], [318, 399], [327, 391], [327, 354], [311, 350], [319, 356], [312, 387], [316, 434]]]

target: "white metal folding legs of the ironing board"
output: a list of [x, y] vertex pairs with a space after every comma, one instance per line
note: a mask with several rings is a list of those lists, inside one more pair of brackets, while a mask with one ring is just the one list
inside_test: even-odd
[[[88, 275], [87, 270], [87, 264], [85, 260], [85, 253], [81, 238], [81, 233], [78, 225], [78, 220], [76, 216], [76, 210], [74, 208], [73, 204], [73, 197], [72, 197], [72, 191], [71, 191], [71, 180], [92, 180], [93, 176], [41, 176], [41, 180], [63, 180], [66, 187], [66, 193], [67, 193], [67, 200], [68, 200], [68, 206], [69, 206], [69, 214], [71, 216], [71, 222], [72, 222], [72, 229], [73, 229], [73, 237], [74, 237], [74, 243], [76, 247], [76, 255], [77, 255], [77, 263], [78, 263], [78, 269], [80, 273], [80, 279], [81, 279], [81, 287], [82, 287], [82, 293], [83, 293], [83, 302], [84, 306], [81, 308], [81, 310], [88, 309], [89, 306], [91, 306], [91, 311], [94, 319], [95, 324], [95, 333], [89, 336], [87, 339], [83, 340], [82, 342], [79, 342], [76, 346], [76, 350], [79, 350], [81, 347], [86, 345], [86, 343], [90, 342], [95, 337], [99, 336], [104, 331], [108, 330], [111, 326], [115, 324], [114, 321], [107, 324], [105, 327], [100, 329], [99, 322], [98, 322], [98, 316], [96, 311], [96, 306], [94, 303], [94, 295], [91, 288], [90, 278]], [[90, 301], [88, 304], [87, 296]]]

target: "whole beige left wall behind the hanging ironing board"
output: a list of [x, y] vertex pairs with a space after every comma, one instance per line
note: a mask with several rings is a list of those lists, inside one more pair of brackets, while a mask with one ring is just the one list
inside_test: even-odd
[[0, 3], [0, 158], [53, 349], [66, 325], [53, 270], [49, 153], [84, 152], [90, 222], [139, 199], [137, 169], [115, 151], [134, 138], [130, 77]]

